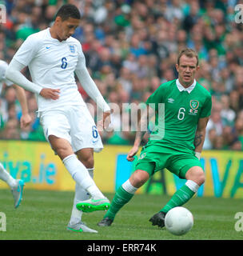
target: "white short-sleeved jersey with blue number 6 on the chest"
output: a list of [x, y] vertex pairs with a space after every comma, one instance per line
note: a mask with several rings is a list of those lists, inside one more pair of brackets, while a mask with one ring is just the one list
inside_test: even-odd
[[51, 37], [50, 28], [47, 28], [26, 38], [14, 59], [29, 67], [32, 82], [38, 86], [60, 89], [57, 100], [42, 98], [38, 94], [38, 111], [85, 105], [74, 78], [76, 67], [86, 66], [77, 39], [70, 37], [59, 42]]

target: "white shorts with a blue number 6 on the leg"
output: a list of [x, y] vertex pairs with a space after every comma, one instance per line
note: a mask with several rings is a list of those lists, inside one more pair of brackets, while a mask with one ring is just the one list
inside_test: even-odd
[[48, 142], [48, 137], [54, 135], [69, 141], [74, 152], [84, 148], [94, 148], [95, 152], [103, 149], [102, 139], [86, 106], [42, 111], [40, 122]]

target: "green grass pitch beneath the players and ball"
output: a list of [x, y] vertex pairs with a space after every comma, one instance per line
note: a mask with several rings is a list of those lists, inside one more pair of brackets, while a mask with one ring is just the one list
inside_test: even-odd
[[[106, 194], [110, 199], [114, 194]], [[13, 206], [10, 190], [0, 190], [0, 212], [6, 214], [6, 231], [0, 240], [241, 240], [243, 220], [235, 218], [243, 212], [242, 199], [192, 198], [185, 204], [194, 217], [193, 229], [174, 236], [165, 229], [152, 226], [149, 218], [169, 200], [169, 196], [136, 194], [117, 214], [109, 227], [97, 226], [105, 212], [83, 215], [83, 221], [98, 234], [66, 230], [70, 219], [74, 192], [24, 190], [21, 206]], [[241, 221], [241, 230], [235, 224]], [[0, 222], [1, 223], [1, 222]], [[0, 224], [1, 228], [1, 224]]]

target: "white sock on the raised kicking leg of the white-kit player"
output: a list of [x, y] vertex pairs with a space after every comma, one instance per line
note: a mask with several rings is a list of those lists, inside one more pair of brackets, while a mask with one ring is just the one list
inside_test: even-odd
[[92, 198], [105, 198], [94, 183], [94, 180], [90, 177], [86, 167], [78, 160], [75, 154], [70, 154], [64, 158], [62, 162], [72, 175], [72, 178], [74, 178], [74, 181], [77, 182], [82, 189], [88, 191]]

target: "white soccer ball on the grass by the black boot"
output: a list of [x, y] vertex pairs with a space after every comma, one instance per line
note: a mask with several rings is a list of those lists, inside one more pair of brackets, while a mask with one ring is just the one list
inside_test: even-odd
[[165, 215], [165, 228], [172, 234], [185, 234], [192, 227], [193, 214], [184, 207], [174, 207]]

